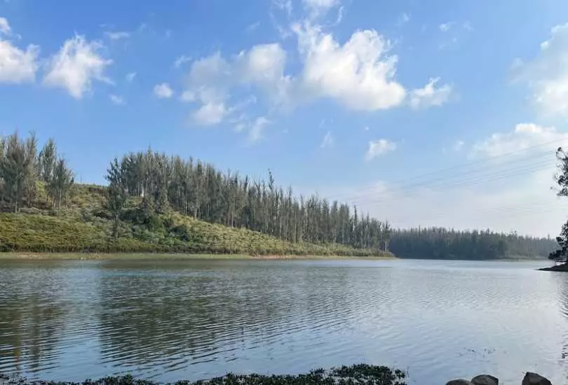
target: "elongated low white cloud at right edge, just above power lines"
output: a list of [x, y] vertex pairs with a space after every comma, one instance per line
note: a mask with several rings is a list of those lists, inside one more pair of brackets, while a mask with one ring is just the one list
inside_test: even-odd
[[[544, 145], [548, 144], [548, 147]], [[559, 132], [555, 127], [543, 127], [534, 123], [521, 123], [511, 132], [496, 132], [489, 138], [478, 141], [471, 155], [498, 157], [542, 146], [541, 150], [568, 145], [568, 132]]]

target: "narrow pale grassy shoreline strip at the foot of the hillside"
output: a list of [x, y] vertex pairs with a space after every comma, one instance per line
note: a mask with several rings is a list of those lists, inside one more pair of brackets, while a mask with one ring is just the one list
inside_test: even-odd
[[0, 253], [0, 260], [395, 260], [394, 256], [249, 255], [186, 253]]

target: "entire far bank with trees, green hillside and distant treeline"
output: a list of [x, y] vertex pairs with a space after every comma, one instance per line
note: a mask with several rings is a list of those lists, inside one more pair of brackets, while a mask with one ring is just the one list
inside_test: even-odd
[[227, 253], [492, 259], [550, 253], [550, 239], [393, 230], [347, 203], [145, 151], [115, 158], [108, 186], [74, 183], [49, 140], [0, 139], [0, 251]]

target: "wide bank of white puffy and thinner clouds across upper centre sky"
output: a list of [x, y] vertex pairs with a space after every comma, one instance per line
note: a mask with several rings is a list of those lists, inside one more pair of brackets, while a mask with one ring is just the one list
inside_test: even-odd
[[[355, 111], [407, 104], [409, 94], [395, 78], [398, 57], [377, 31], [356, 31], [340, 43], [311, 22], [292, 25], [291, 30], [299, 54], [299, 69], [293, 73], [288, 72], [288, 52], [280, 43], [253, 45], [236, 55], [215, 52], [194, 60], [180, 94], [182, 102], [194, 106], [194, 123], [235, 120], [246, 106], [236, 97], [243, 91], [262, 96], [268, 113], [323, 98]], [[438, 80], [413, 90], [410, 104], [427, 108], [446, 102], [452, 87], [436, 87]]]

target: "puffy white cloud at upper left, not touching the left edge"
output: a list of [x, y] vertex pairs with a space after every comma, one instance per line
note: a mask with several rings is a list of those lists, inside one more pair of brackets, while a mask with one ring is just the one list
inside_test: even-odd
[[48, 73], [43, 84], [62, 87], [76, 99], [91, 90], [93, 80], [111, 83], [104, 70], [112, 63], [100, 54], [103, 46], [97, 41], [86, 41], [76, 35], [65, 41], [60, 51], [48, 63]]

